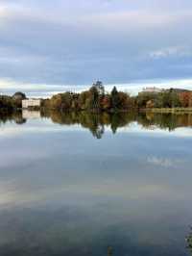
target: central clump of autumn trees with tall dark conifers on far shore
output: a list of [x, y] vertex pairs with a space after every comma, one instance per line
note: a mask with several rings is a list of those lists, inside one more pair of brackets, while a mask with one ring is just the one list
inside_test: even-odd
[[128, 93], [118, 91], [116, 87], [108, 93], [103, 83], [98, 81], [81, 93], [67, 91], [56, 94], [43, 100], [42, 106], [55, 110], [117, 111], [131, 109], [135, 104]]

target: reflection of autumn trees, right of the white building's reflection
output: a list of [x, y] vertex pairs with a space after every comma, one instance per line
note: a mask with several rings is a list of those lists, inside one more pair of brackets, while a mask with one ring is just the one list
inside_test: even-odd
[[[90, 112], [56, 112], [52, 111], [46, 114], [54, 122], [60, 124], [81, 124], [84, 128], [90, 130], [92, 135], [101, 139], [105, 132], [105, 126], [110, 127], [113, 133], [118, 128], [127, 126], [136, 121], [146, 128], [160, 128], [175, 130], [177, 127], [192, 127], [192, 115], [174, 115], [174, 114], [149, 114], [149, 113], [90, 113]], [[44, 116], [44, 115], [43, 115]]]

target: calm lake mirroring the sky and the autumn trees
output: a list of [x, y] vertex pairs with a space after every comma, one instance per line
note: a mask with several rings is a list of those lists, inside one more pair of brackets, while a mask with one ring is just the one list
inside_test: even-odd
[[1, 256], [190, 255], [192, 115], [24, 111], [0, 145]]

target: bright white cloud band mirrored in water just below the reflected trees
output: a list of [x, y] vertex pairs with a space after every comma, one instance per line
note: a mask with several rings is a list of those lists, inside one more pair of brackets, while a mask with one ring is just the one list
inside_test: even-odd
[[[16, 125], [13, 123], [6, 123], [0, 125], [0, 140], [4, 137], [16, 137], [22, 136], [25, 133], [39, 134], [39, 133], [59, 133], [59, 132], [73, 132], [73, 131], [85, 131], [81, 124], [58, 124], [53, 123], [51, 119], [28, 119], [27, 123], [24, 125]], [[105, 125], [105, 133], [111, 132], [111, 128]], [[136, 135], [149, 135], [149, 136], [174, 136], [174, 137], [192, 137], [192, 128], [181, 127], [176, 128], [173, 131], [168, 129], [160, 129], [153, 125], [149, 127], [143, 127], [142, 124], [138, 124], [133, 121], [129, 125], [124, 127], [118, 127], [117, 133], [131, 133]]]

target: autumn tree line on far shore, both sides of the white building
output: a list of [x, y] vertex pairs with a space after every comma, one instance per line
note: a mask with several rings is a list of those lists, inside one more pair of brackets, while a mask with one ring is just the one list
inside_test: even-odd
[[[12, 96], [0, 96], [0, 112], [22, 107], [26, 95], [16, 92]], [[136, 96], [118, 91], [116, 87], [108, 92], [102, 82], [97, 81], [89, 90], [81, 93], [66, 91], [41, 100], [41, 108], [60, 111], [106, 111], [118, 112], [153, 108], [192, 108], [191, 90], [163, 90], [161, 92], [140, 92]]]

